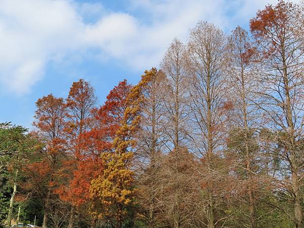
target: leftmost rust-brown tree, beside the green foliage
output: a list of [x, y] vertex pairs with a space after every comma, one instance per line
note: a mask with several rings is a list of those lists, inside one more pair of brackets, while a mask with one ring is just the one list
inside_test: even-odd
[[[65, 115], [66, 107], [63, 98], [56, 98], [52, 94], [40, 98], [36, 102], [35, 121], [37, 135], [45, 143], [41, 161], [29, 166], [28, 187], [35, 191], [44, 201], [43, 227], [48, 225], [50, 198], [56, 187], [56, 172], [61, 167], [61, 161], [66, 151]], [[32, 168], [32, 170], [31, 170]], [[37, 176], [38, 175], [38, 176]], [[44, 181], [37, 184], [37, 178], [44, 177]], [[31, 182], [32, 180], [32, 182]], [[36, 181], [35, 181], [36, 180]]]

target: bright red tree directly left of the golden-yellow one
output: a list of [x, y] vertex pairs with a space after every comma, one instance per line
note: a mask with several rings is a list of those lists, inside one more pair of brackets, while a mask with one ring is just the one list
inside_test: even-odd
[[[81, 208], [86, 205], [88, 209], [87, 205], [92, 205], [94, 199], [89, 194], [91, 180], [102, 175], [100, 155], [112, 148], [112, 140], [123, 118], [130, 89], [131, 85], [126, 80], [120, 82], [110, 91], [103, 106], [99, 109], [92, 107], [91, 115], [86, 115], [90, 126], [84, 124], [87, 121], [77, 118], [79, 116], [77, 110], [81, 109], [79, 106], [81, 102], [75, 104], [74, 101], [71, 102], [71, 98], [67, 99], [68, 110], [73, 107], [73, 116], [67, 114], [68, 118], [73, 117], [73, 122], [67, 122], [67, 132], [72, 134], [73, 130], [69, 128], [70, 126], [77, 129], [78, 138], [70, 142], [70, 144], [77, 142], [71, 147], [74, 151], [71, 153], [73, 158], [65, 162], [65, 167], [61, 172], [62, 179], [67, 178], [68, 181], [63, 182], [56, 192], [62, 200], [70, 202], [74, 207]], [[81, 94], [78, 93], [77, 96]], [[81, 98], [75, 97], [73, 100], [79, 101]], [[92, 219], [92, 226], [95, 221], [96, 219]]]

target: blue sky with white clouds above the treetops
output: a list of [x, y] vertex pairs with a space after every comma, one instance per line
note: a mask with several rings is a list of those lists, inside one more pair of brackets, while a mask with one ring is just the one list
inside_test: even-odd
[[32, 128], [35, 101], [84, 79], [102, 104], [158, 67], [200, 20], [229, 33], [277, 0], [0, 0], [0, 122]]

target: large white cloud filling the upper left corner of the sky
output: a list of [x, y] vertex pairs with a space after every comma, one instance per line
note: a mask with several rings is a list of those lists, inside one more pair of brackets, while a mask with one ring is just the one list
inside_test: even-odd
[[79, 49], [85, 25], [67, 1], [0, 1], [0, 83], [28, 92], [46, 63]]

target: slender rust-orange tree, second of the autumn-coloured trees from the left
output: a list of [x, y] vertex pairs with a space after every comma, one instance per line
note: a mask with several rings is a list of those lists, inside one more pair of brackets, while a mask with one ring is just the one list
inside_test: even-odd
[[[58, 173], [63, 177], [62, 183], [59, 183], [57, 192], [59, 196], [73, 201], [72, 194], [69, 194], [72, 189], [69, 189], [70, 182], [74, 181], [73, 174], [77, 172], [77, 169], [83, 170], [85, 161], [82, 161], [82, 150], [80, 144], [82, 134], [89, 131], [93, 125], [93, 114], [91, 110], [95, 108], [97, 98], [94, 93], [94, 88], [90, 83], [80, 79], [78, 82], [74, 82], [70, 88], [68, 97], [66, 98], [66, 147], [68, 148], [67, 161], [64, 162], [62, 170]], [[74, 204], [71, 205], [70, 217], [68, 228], [73, 227], [74, 223]]]

